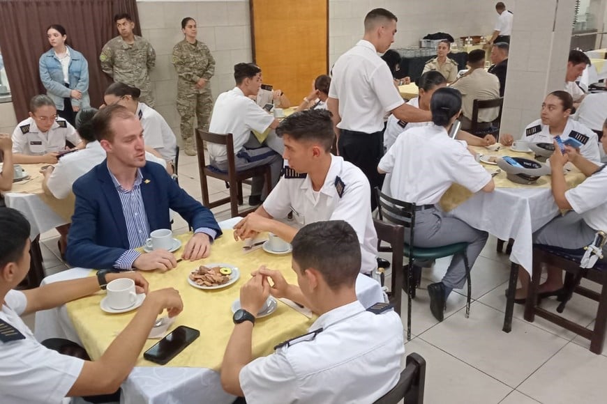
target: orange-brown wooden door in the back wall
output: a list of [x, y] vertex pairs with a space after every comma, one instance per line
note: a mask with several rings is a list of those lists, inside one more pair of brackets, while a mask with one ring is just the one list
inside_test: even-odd
[[293, 106], [329, 71], [328, 0], [250, 0], [253, 61]]

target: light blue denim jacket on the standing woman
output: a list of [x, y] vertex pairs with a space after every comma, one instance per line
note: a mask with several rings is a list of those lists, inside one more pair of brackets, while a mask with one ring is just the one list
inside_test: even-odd
[[57, 109], [63, 110], [63, 98], [70, 98], [70, 91], [72, 90], [82, 92], [80, 100], [71, 99], [72, 105], [81, 109], [89, 107], [91, 105], [91, 100], [89, 99], [89, 63], [87, 63], [87, 59], [84, 59], [83, 54], [67, 45], [66, 47], [70, 50], [70, 65], [68, 68], [70, 88], [67, 88], [63, 84], [61, 62], [55, 56], [54, 49], [52, 48], [40, 56], [40, 80], [47, 89], [47, 95], [52, 98]]

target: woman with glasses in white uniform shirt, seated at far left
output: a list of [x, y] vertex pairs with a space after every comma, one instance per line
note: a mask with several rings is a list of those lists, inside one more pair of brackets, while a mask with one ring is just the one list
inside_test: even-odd
[[55, 164], [66, 141], [78, 148], [80, 137], [68, 121], [57, 118], [57, 108], [48, 95], [34, 95], [29, 102], [29, 118], [20, 122], [13, 132], [15, 164]]

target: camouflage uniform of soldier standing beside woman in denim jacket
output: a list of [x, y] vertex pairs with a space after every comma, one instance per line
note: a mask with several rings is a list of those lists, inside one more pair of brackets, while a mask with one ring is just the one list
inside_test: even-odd
[[149, 71], [156, 65], [156, 52], [147, 39], [135, 35], [133, 45], [121, 36], [112, 38], [101, 49], [101, 70], [114, 82], [128, 84], [141, 90], [140, 102], [153, 108], [154, 97]]

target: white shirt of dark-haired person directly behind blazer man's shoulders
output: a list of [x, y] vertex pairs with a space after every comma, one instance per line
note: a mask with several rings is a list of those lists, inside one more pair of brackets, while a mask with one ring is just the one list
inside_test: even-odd
[[[72, 192], [72, 185], [74, 185], [75, 180], [103, 162], [105, 157], [107, 157], [105, 150], [98, 141], [91, 141], [87, 143], [86, 148], [61, 157], [48, 179], [48, 189], [57, 199], [67, 198]], [[167, 166], [165, 160], [159, 159], [148, 152], [145, 152], [145, 160], [158, 163], [163, 167]]]

